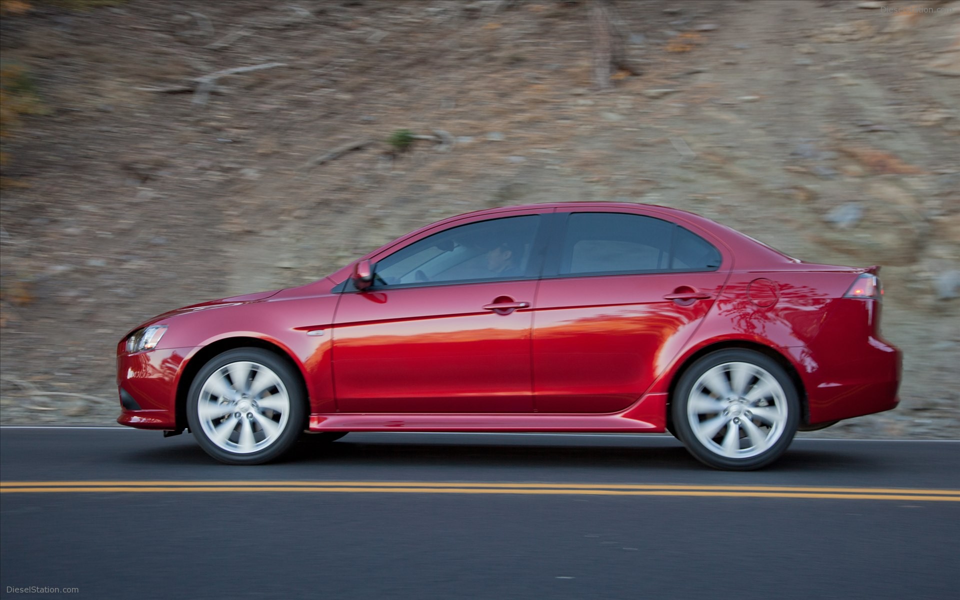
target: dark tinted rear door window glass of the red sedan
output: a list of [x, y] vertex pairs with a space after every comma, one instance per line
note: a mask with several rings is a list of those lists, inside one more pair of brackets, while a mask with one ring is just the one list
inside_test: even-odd
[[720, 252], [673, 223], [641, 215], [578, 212], [567, 218], [560, 275], [712, 271]]

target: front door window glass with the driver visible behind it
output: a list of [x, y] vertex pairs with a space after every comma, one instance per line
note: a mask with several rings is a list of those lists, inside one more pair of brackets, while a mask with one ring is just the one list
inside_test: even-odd
[[414, 242], [376, 264], [375, 285], [496, 281], [537, 276], [531, 260], [540, 215], [450, 228]]

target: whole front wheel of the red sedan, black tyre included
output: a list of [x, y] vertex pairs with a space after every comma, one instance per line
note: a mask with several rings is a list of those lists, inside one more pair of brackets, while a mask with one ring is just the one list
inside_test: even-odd
[[306, 412], [297, 372], [262, 348], [228, 350], [206, 363], [186, 406], [197, 442], [229, 465], [258, 465], [282, 455], [300, 436]]

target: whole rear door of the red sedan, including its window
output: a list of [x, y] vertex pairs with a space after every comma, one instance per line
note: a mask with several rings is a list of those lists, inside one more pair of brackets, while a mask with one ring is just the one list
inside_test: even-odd
[[[537, 295], [539, 413], [612, 413], [642, 396], [722, 291], [723, 253], [655, 216], [558, 212]], [[729, 262], [729, 259], [728, 259]]]

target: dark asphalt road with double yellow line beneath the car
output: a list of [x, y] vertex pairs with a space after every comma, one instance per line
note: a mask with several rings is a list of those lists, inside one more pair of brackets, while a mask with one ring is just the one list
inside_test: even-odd
[[400, 433], [228, 467], [188, 434], [3, 428], [0, 597], [955, 598], [958, 465], [951, 442], [798, 440], [736, 473], [661, 436]]

